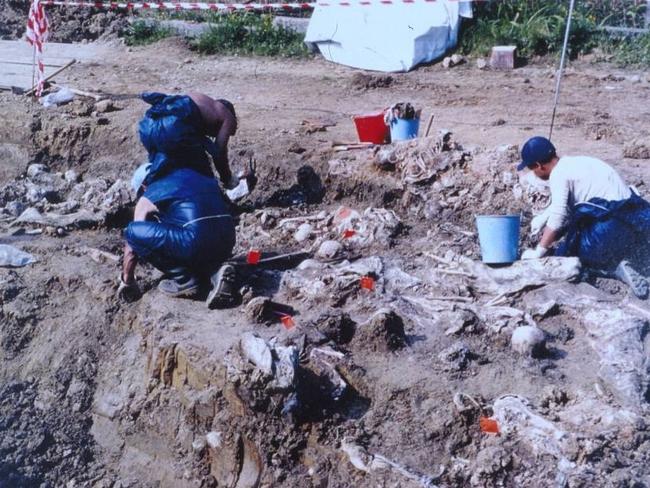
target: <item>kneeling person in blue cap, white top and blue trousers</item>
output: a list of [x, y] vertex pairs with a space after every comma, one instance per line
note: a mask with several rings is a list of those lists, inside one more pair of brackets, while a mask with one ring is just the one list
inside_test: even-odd
[[545, 137], [529, 139], [521, 156], [517, 169], [530, 169], [551, 188], [550, 206], [531, 225], [533, 234], [543, 229], [539, 244], [524, 251], [522, 259], [577, 256], [588, 268], [620, 279], [645, 298], [648, 282], [631, 262], [648, 265], [650, 203], [607, 163], [587, 156], [560, 158]]

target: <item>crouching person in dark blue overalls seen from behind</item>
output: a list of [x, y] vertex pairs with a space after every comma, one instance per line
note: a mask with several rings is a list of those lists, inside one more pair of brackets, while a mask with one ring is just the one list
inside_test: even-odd
[[149, 164], [140, 166], [131, 184], [139, 195], [134, 220], [125, 232], [126, 245], [119, 293], [137, 293], [138, 260], [162, 271], [158, 289], [171, 296], [191, 296], [211, 277], [209, 305], [234, 297], [235, 270], [222, 263], [235, 245], [235, 225], [217, 181], [189, 168], [179, 168], [148, 185]]

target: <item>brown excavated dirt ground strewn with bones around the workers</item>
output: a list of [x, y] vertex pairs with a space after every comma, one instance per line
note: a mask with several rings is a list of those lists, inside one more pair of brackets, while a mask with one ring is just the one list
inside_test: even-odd
[[[573, 260], [477, 262], [476, 213], [527, 222], [544, 199], [518, 182], [512, 146], [547, 133], [553, 66], [431, 65], [375, 83], [318, 58], [113, 45], [56, 80], [112, 107], [0, 94], [0, 242], [38, 259], [0, 270], [0, 487], [650, 484], [650, 307], [609, 280], [575, 283]], [[232, 310], [161, 296], [149, 268], [143, 298], [119, 302], [122, 180], [146, 157], [146, 90], [235, 104], [232, 164], [254, 156], [260, 171], [237, 210], [237, 252], [334, 240], [334, 259], [249, 271]], [[434, 135], [332, 151], [355, 139], [352, 114], [397, 101], [433, 113]], [[650, 159], [632, 142], [648, 138], [649, 107], [647, 73], [577, 61], [554, 142], [611, 162], [647, 194]], [[30, 207], [40, 224], [14, 222]], [[254, 297], [293, 307], [296, 327]], [[546, 348], [513, 352], [513, 330], [532, 324]], [[481, 416], [500, 434], [482, 432]]]

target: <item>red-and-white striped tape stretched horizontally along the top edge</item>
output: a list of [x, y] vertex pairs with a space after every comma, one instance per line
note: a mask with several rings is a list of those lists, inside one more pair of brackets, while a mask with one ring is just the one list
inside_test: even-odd
[[[305, 2], [305, 3], [204, 3], [204, 2], [104, 2], [86, 0], [41, 0], [43, 5], [59, 5], [70, 7], [94, 7], [99, 9], [126, 10], [211, 10], [213, 12], [235, 11], [285, 11], [295, 12], [312, 10], [320, 7], [352, 7], [373, 5], [402, 5], [413, 3], [435, 3], [438, 0], [339, 0], [334, 2]], [[466, 0], [447, 0], [462, 2]], [[477, 0], [474, 0], [477, 1]], [[481, 0], [478, 0], [481, 1]]]

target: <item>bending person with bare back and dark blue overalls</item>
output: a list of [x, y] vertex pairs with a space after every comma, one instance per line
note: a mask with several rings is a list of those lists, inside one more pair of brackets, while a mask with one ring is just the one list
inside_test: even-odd
[[151, 105], [139, 123], [140, 140], [149, 154], [145, 184], [176, 168], [192, 168], [212, 176], [212, 163], [226, 188], [237, 186], [228, 162], [228, 142], [237, 131], [237, 115], [228, 100], [203, 93], [165, 95], [147, 92]]

